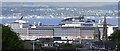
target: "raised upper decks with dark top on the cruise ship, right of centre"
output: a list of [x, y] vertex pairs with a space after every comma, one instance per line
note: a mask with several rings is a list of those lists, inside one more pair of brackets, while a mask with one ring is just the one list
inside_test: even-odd
[[85, 19], [84, 16], [65, 18], [59, 25], [62, 26], [95, 26], [95, 20]]

